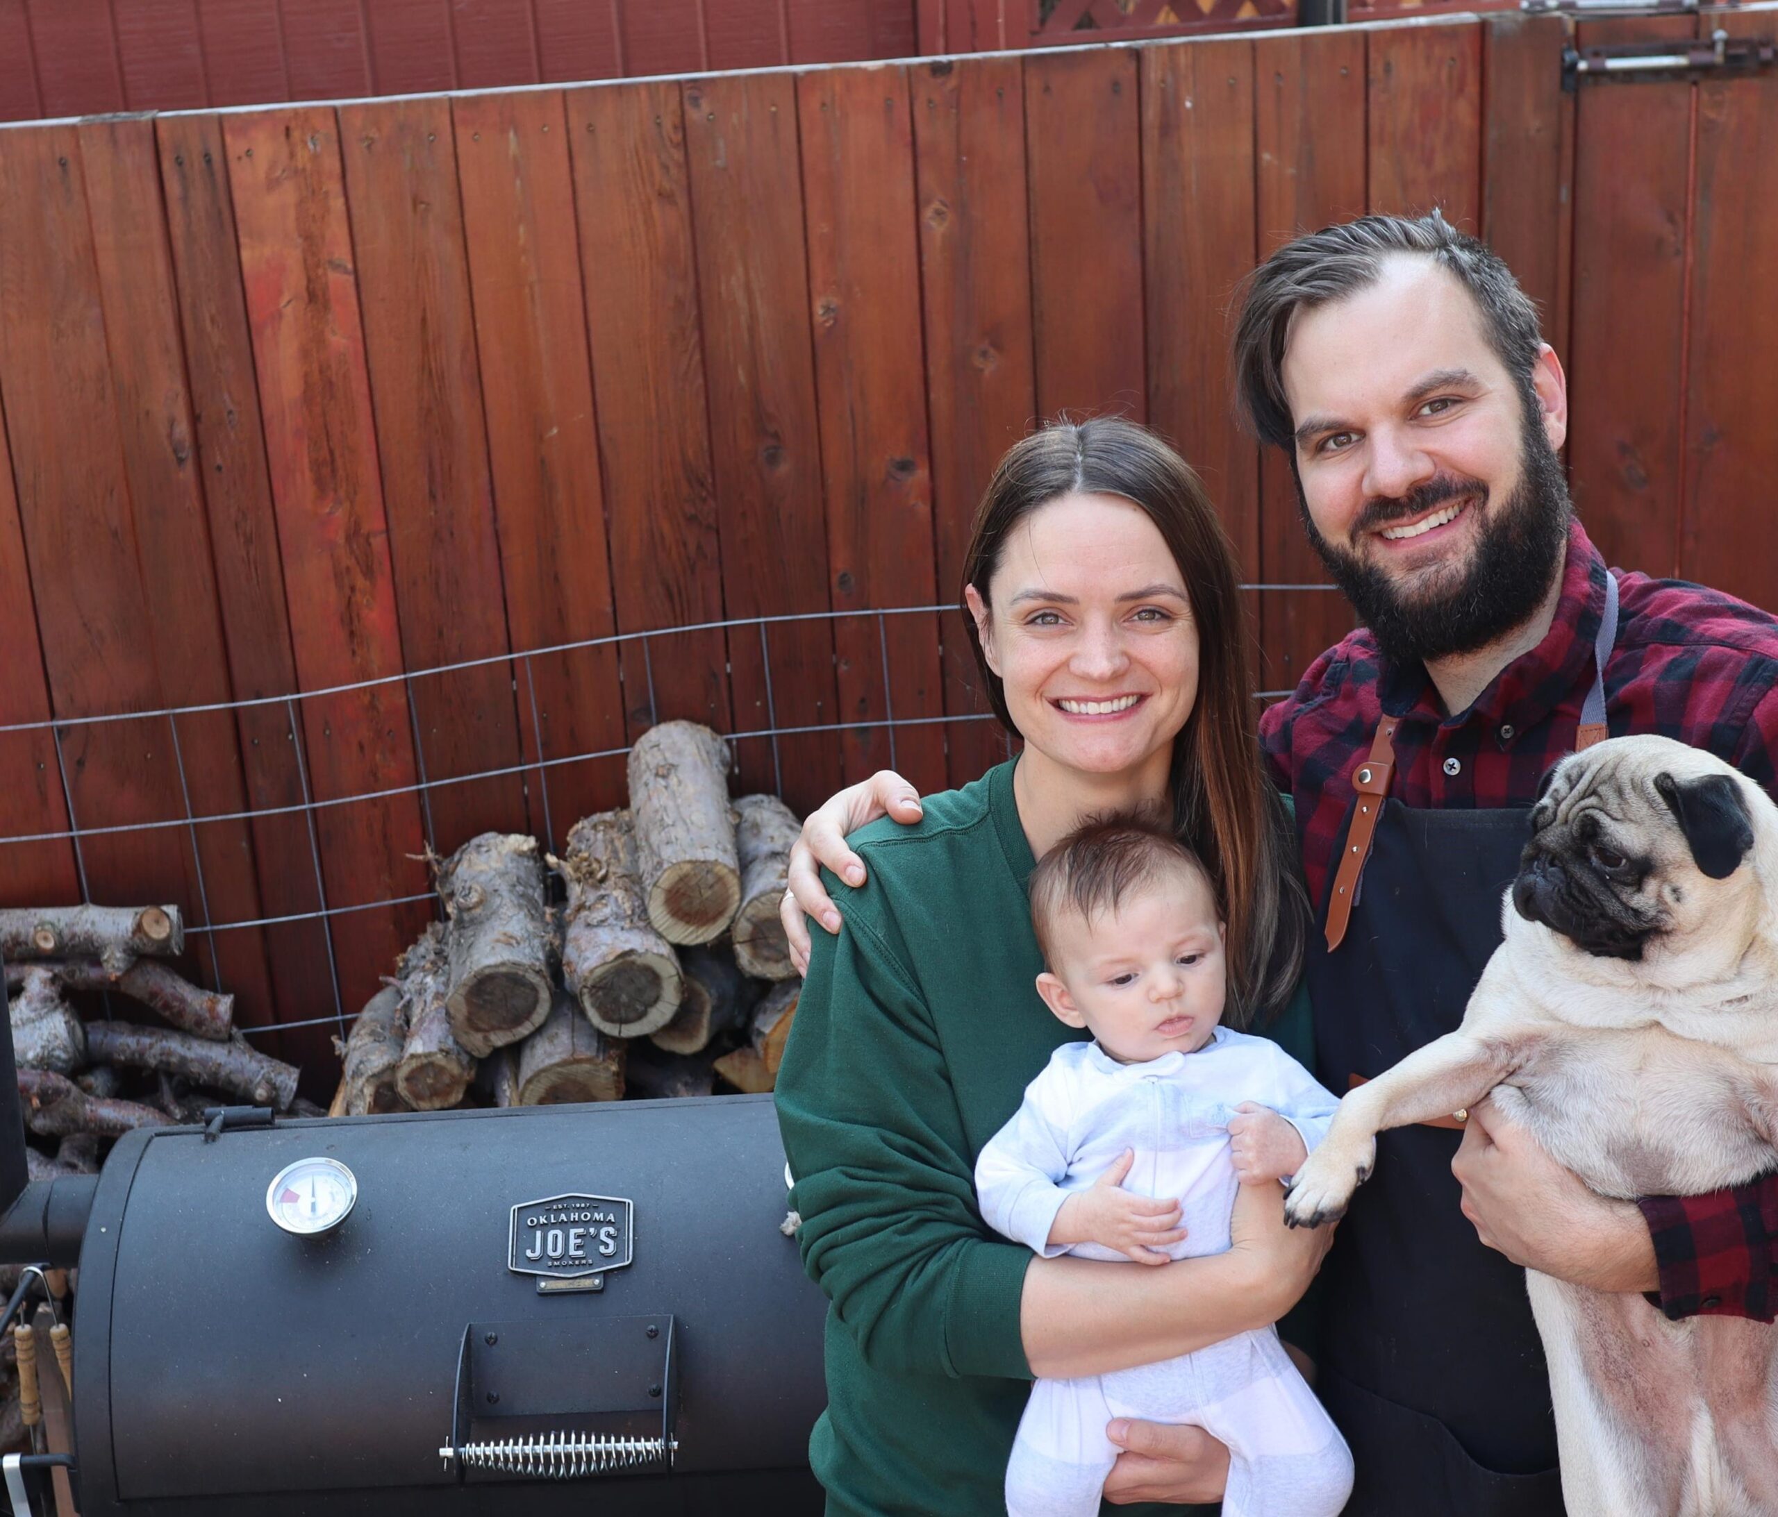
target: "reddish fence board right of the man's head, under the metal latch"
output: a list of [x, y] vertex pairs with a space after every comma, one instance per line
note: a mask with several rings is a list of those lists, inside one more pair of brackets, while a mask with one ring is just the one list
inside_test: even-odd
[[[1581, 44], [1689, 37], [1696, 20], [1586, 21]], [[1568, 478], [1613, 563], [1678, 558], [1686, 80], [1582, 85], [1575, 124]], [[1634, 165], [1627, 171], [1625, 165]]]

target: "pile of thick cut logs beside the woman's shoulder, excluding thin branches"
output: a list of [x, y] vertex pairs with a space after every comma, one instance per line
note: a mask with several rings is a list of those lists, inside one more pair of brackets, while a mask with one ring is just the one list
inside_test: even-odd
[[770, 1091], [800, 981], [777, 909], [798, 821], [729, 799], [729, 753], [667, 721], [629, 806], [562, 856], [484, 833], [434, 860], [444, 920], [340, 1043], [331, 1114]]

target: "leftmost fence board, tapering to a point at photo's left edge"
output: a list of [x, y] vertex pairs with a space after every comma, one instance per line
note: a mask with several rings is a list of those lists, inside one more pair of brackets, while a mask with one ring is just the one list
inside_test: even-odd
[[[4, 382], [4, 375], [0, 375]], [[36, 590], [12, 488], [12, 457], [0, 416], [0, 723], [50, 719], [50, 689], [37, 639]], [[0, 833], [68, 831], [55, 741], [43, 728], [0, 732]], [[75, 849], [66, 838], [0, 844], [0, 904], [62, 906], [80, 899]]]

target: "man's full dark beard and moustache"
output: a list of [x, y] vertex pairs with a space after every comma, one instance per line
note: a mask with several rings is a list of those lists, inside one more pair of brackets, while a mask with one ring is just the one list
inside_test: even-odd
[[1488, 487], [1479, 480], [1449, 474], [1430, 480], [1401, 499], [1366, 503], [1355, 533], [1392, 520], [1414, 520], [1454, 499], [1467, 499], [1465, 510], [1483, 517], [1481, 536], [1462, 577], [1451, 583], [1449, 576], [1433, 576], [1433, 583], [1417, 592], [1405, 593], [1374, 563], [1330, 544], [1309, 517], [1309, 503], [1298, 480], [1296, 501], [1309, 542], [1390, 663], [1428, 663], [1472, 654], [1529, 622], [1543, 604], [1550, 583], [1561, 572], [1574, 508], [1556, 449], [1529, 407], [1522, 433], [1518, 487], [1492, 517], [1486, 512]]

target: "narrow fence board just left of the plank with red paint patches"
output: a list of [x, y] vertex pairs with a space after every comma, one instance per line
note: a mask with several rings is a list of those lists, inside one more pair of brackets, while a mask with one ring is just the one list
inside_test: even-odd
[[[229, 686], [236, 700], [293, 695], [297, 668], [222, 124], [215, 115], [164, 115], [155, 128]], [[251, 806], [283, 812], [252, 822], [260, 908], [267, 917], [315, 911], [322, 897], [308, 821], [284, 810], [302, 805], [290, 712], [283, 705], [247, 705], [235, 718]], [[194, 803], [206, 812], [220, 810], [208, 798], [194, 796]], [[220, 915], [242, 917], [233, 902], [213, 904], [229, 908]], [[277, 922], [265, 929], [265, 940], [277, 984], [277, 1020], [327, 1014], [332, 979], [322, 925]], [[244, 1007], [236, 1016], [244, 1027], [252, 1021], [245, 1013]], [[260, 1046], [306, 1069], [325, 1069], [332, 1057], [325, 1029], [300, 1029]]]

